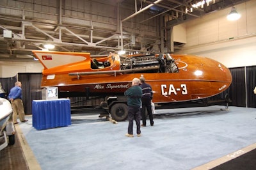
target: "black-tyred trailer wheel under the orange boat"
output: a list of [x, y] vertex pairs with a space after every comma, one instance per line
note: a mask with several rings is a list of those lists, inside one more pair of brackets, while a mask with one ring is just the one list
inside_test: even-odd
[[128, 117], [127, 105], [122, 103], [113, 105], [110, 114], [115, 121], [125, 121]]

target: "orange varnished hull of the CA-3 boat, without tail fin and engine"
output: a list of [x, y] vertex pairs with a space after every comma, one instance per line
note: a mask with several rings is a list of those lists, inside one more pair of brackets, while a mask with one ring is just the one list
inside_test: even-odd
[[[59, 91], [76, 92], [84, 95], [124, 94], [134, 77], [143, 75], [154, 91], [153, 102], [181, 102], [217, 95], [225, 91], [232, 82], [228, 68], [209, 58], [187, 55], [172, 55], [179, 68], [177, 73], [102, 73], [95, 75], [69, 75], [54, 73], [54, 79], [47, 79], [43, 72], [42, 88], [57, 86]], [[88, 71], [87, 71], [88, 72]], [[95, 70], [92, 70], [95, 72]], [[70, 73], [70, 72], [69, 72]]]

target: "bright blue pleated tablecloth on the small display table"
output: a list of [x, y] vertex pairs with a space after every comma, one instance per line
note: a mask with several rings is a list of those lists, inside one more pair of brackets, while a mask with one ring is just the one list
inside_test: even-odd
[[71, 125], [70, 100], [33, 100], [32, 118], [37, 130]]

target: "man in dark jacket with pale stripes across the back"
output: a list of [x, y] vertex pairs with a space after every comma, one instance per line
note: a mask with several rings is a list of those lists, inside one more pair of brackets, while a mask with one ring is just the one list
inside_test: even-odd
[[141, 117], [142, 117], [142, 127], [146, 126], [146, 108], [148, 111], [148, 117], [150, 120], [150, 125], [154, 126], [154, 121], [153, 121], [153, 114], [152, 114], [152, 107], [151, 107], [151, 100], [153, 97], [153, 92], [150, 84], [147, 84], [145, 82], [145, 78], [142, 76], [140, 77], [140, 82], [141, 82], [141, 89], [142, 89], [142, 97], [141, 97], [141, 103], [142, 103], [142, 109], [141, 109]]

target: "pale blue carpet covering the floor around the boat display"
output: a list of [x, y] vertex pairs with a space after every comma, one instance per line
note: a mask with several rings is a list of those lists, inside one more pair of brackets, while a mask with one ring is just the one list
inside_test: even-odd
[[43, 170], [184, 170], [256, 143], [255, 108], [220, 109], [157, 110], [154, 127], [141, 127], [141, 137], [132, 138], [125, 137], [128, 121], [113, 124], [97, 114], [72, 114], [72, 125], [47, 130], [36, 130], [26, 116], [19, 126]]

